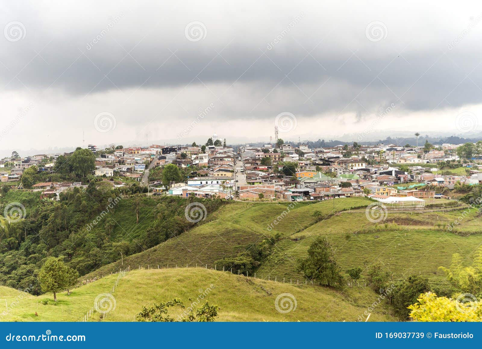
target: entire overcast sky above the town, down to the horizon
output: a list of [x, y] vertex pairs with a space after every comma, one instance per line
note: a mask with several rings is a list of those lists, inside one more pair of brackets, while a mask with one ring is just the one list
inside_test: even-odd
[[4, 1], [0, 150], [481, 131], [480, 1], [238, 3]]

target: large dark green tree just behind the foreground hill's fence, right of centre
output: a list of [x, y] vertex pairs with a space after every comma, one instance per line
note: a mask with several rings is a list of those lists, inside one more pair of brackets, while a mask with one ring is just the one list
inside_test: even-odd
[[298, 260], [296, 269], [323, 286], [338, 286], [343, 281], [340, 267], [326, 237], [317, 237], [311, 243], [308, 257]]

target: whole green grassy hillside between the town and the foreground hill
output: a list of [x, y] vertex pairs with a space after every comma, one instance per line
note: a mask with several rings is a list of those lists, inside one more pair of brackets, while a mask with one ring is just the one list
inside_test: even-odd
[[[482, 224], [477, 209], [427, 213], [389, 211], [387, 219], [379, 224], [367, 220], [364, 208], [348, 210], [370, 203], [366, 198], [335, 200], [335, 213], [331, 200], [291, 206], [236, 202], [214, 212], [211, 222], [124, 259], [124, 266], [207, 264], [214, 268], [215, 261], [234, 256], [265, 236], [280, 233], [281, 239], [272, 255], [263, 261], [256, 274], [265, 279], [268, 276], [303, 279], [295, 270], [296, 260], [306, 256], [313, 237], [326, 235], [343, 270], [356, 266], [366, 270], [370, 265], [382, 263], [397, 278], [419, 274], [437, 285], [444, 281], [438, 267], [449, 265], [453, 253], [460, 253], [469, 265], [473, 251], [482, 244]], [[321, 214], [319, 218], [314, 215], [316, 211]], [[464, 218], [454, 225], [462, 214]], [[274, 219], [278, 224], [273, 224]], [[447, 229], [449, 225], [454, 226], [452, 231]], [[106, 265], [86, 278], [107, 275], [121, 266], [119, 262]]]

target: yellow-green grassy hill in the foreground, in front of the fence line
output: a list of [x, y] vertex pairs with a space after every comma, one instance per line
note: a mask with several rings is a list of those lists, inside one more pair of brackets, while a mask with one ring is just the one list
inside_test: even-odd
[[[60, 293], [57, 305], [40, 303], [52, 299], [52, 293], [26, 296], [18, 300], [17, 306], [2, 321], [81, 321], [85, 312], [94, 306], [95, 297], [107, 292], [116, 278], [117, 275], [107, 276], [74, 289], [69, 296]], [[0, 288], [0, 298], [9, 304], [15, 301], [17, 293]], [[141, 269], [120, 279], [113, 294], [116, 307], [107, 313], [106, 321], [134, 321], [142, 306], [174, 297], [181, 298], [188, 306], [198, 300], [200, 293], [206, 294], [200, 305], [207, 300], [221, 307], [216, 321], [357, 321], [378, 298], [369, 288], [348, 288], [341, 293], [320, 286], [283, 284], [202, 268]], [[286, 314], [276, 310], [275, 300], [281, 293], [294, 296], [295, 310]], [[0, 299], [0, 303], [4, 299]], [[39, 316], [35, 316], [36, 311]], [[175, 316], [178, 314], [179, 311], [173, 312]], [[94, 314], [91, 321], [101, 321], [99, 315]], [[370, 321], [395, 320], [383, 302], [370, 317]]]

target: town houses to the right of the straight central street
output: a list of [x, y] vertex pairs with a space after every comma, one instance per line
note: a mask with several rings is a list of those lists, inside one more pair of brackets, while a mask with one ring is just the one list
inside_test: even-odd
[[[433, 190], [418, 190], [417, 185], [410, 185], [411, 182], [450, 189], [455, 187], [456, 182], [482, 182], [482, 173], [479, 175], [480, 171], [476, 169], [470, 170], [470, 176], [441, 176], [431, 173], [436, 168], [409, 166], [409, 174], [395, 167], [395, 164], [406, 163], [409, 158], [405, 156], [406, 153], [415, 154], [418, 163], [451, 159], [452, 155], [438, 154], [437, 158], [432, 157], [435, 155], [432, 151], [424, 154], [421, 147], [405, 149], [383, 144], [376, 147], [361, 146], [357, 147], [356, 155], [349, 157], [344, 157], [346, 149], [341, 145], [317, 149], [291, 144], [283, 144], [279, 149], [274, 149], [270, 144], [263, 147], [246, 145], [241, 146], [239, 151], [246, 184], [236, 183], [236, 189], [243, 199], [263, 197], [299, 201], [367, 195], [384, 202], [423, 205], [425, 200], [446, 196], [435, 195]], [[270, 161], [263, 161], [264, 158]], [[375, 161], [368, 161], [370, 158]], [[295, 172], [283, 173], [284, 166], [279, 162], [294, 163]], [[378, 164], [369, 165], [367, 162]]]

